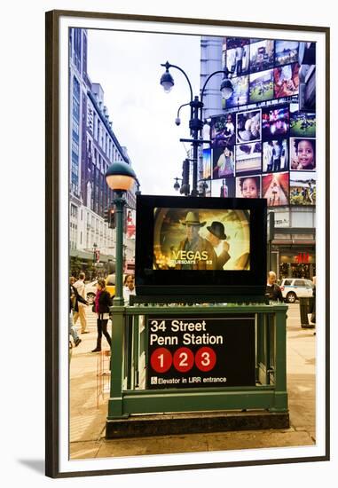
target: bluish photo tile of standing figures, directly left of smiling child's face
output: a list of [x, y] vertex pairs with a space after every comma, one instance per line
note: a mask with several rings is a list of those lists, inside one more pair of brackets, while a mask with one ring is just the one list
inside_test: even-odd
[[263, 173], [287, 171], [289, 167], [288, 144], [286, 138], [263, 142]]

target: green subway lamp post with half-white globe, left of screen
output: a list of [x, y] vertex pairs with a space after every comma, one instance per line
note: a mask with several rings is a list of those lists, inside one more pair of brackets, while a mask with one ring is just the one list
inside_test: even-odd
[[126, 204], [124, 193], [130, 190], [137, 180], [134, 170], [126, 162], [114, 162], [106, 170], [106, 184], [114, 191], [116, 216], [116, 248], [115, 248], [115, 296], [113, 305], [124, 304], [123, 300], [123, 209]]

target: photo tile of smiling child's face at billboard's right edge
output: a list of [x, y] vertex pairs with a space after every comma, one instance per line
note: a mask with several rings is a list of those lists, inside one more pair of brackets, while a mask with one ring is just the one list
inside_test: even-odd
[[290, 169], [316, 170], [316, 139], [290, 138]]

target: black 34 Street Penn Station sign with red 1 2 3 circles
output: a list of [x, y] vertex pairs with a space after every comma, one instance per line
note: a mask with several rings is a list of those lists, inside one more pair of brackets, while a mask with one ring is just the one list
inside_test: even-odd
[[147, 320], [146, 388], [255, 386], [255, 316]]

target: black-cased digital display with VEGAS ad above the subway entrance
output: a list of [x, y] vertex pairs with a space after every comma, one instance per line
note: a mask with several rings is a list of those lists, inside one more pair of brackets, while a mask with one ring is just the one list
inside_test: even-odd
[[[138, 195], [137, 295], [255, 295], [266, 280], [266, 201]], [[255, 257], [252, 259], [252, 257]]]

